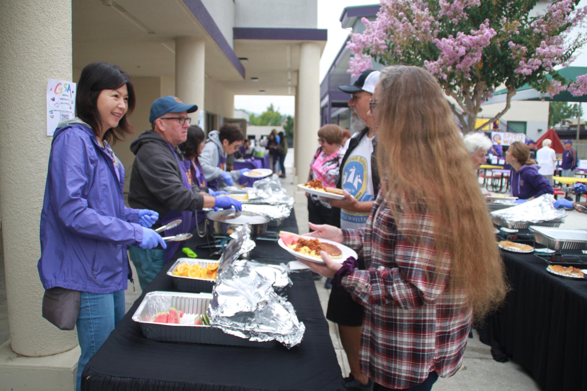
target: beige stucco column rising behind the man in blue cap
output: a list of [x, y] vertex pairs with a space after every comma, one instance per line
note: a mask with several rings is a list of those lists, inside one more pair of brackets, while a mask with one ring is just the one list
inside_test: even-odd
[[198, 123], [200, 112], [204, 111], [205, 59], [203, 39], [176, 39], [176, 96], [183, 103], [197, 104], [198, 111], [190, 114], [194, 125]]

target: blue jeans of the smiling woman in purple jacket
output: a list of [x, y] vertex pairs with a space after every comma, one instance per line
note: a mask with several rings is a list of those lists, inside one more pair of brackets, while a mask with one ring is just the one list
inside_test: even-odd
[[124, 291], [106, 294], [82, 292], [76, 322], [77, 341], [82, 349], [77, 362], [76, 391], [81, 387], [83, 368], [124, 317], [124, 312]]

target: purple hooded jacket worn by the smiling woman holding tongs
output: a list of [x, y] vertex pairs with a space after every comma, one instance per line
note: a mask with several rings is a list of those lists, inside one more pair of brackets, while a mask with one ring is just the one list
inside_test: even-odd
[[[90, 293], [127, 288], [127, 245], [143, 240], [139, 210], [124, 206], [124, 168], [79, 118], [60, 123], [53, 135], [41, 212], [41, 259], [45, 289]], [[117, 159], [117, 158], [116, 158]]]

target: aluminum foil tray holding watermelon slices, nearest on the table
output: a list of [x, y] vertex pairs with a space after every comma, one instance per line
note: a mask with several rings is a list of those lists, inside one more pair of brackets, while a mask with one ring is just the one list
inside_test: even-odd
[[276, 341], [255, 342], [236, 335], [225, 334], [219, 328], [204, 325], [174, 325], [152, 323], [158, 311], [167, 311], [173, 305], [185, 314], [202, 314], [208, 311], [212, 296], [209, 294], [180, 292], [149, 292], [134, 312], [133, 321], [139, 323], [146, 338], [161, 342], [187, 342], [193, 344], [249, 346], [272, 348]]

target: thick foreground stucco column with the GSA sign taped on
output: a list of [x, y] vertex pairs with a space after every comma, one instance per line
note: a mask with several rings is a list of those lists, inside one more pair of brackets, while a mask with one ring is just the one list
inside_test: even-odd
[[6, 92], [0, 105], [2, 240], [11, 347], [24, 356], [77, 345], [75, 331], [59, 331], [41, 317], [44, 290], [36, 267], [52, 141], [47, 79], [73, 81], [71, 16], [70, 0], [0, 1], [0, 82]]

